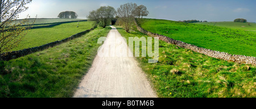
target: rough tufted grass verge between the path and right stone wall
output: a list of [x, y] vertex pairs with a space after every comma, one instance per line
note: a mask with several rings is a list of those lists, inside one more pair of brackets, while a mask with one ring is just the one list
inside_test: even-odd
[[[123, 37], [148, 37], [141, 32]], [[148, 64], [150, 57], [137, 57], [139, 65], [164, 98], [256, 97], [256, 67], [218, 60], [189, 49], [159, 42], [159, 62]]]

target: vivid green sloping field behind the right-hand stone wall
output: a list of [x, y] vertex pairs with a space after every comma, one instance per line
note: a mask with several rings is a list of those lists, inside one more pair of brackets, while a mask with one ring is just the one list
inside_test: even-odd
[[256, 33], [204, 24], [138, 19], [147, 31], [220, 52], [256, 56]]

